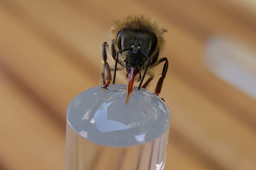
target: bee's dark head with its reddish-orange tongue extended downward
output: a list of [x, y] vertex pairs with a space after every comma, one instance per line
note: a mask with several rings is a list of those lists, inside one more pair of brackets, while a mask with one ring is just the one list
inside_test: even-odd
[[119, 51], [124, 50], [121, 52], [121, 57], [126, 64], [129, 79], [128, 101], [129, 95], [132, 93], [135, 76], [138, 75], [141, 68], [146, 68], [150, 56], [156, 50], [157, 37], [152, 32], [123, 28], [119, 31], [116, 42]]

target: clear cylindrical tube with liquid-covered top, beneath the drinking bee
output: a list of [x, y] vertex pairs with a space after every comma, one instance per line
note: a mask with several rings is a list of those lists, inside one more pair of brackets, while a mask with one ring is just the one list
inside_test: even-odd
[[125, 85], [77, 95], [67, 109], [67, 170], [163, 170], [170, 111], [154, 93]]

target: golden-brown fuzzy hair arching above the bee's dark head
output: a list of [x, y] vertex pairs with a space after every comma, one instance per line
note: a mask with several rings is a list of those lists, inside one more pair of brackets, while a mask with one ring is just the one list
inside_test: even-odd
[[128, 14], [121, 20], [115, 21], [115, 25], [110, 29], [109, 38], [111, 40], [116, 40], [117, 34], [123, 28], [128, 29], [140, 29], [143, 32], [152, 32], [157, 37], [157, 46], [162, 48], [165, 43], [162, 37], [163, 33], [167, 32], [162, 29], [159, 24], [144, 14]]

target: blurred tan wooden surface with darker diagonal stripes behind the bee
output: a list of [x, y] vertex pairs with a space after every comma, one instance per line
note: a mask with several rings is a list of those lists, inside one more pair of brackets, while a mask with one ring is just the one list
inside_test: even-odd
[[255, 11], [253, 0], [0, 0], [0, 169], [66, 168], [67, 106], [100, 85], [101, 45], [127, 13], [148, 14], [168, 30], [165, 169], [256, 169], [255, 99], [203, 64], [216, 34], [255, 47]]

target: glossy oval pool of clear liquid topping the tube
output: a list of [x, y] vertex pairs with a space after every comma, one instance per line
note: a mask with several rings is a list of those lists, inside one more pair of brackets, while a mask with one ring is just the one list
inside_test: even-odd
[[134, 87], [126, 105], [126, 88], [114, 87], [104, 92], [92, 88], [72, 100], [67, 119], [80, 136], [100, 145], [127, 147], [154, 140], [169, 128], [170, 112], [162, 99]]

